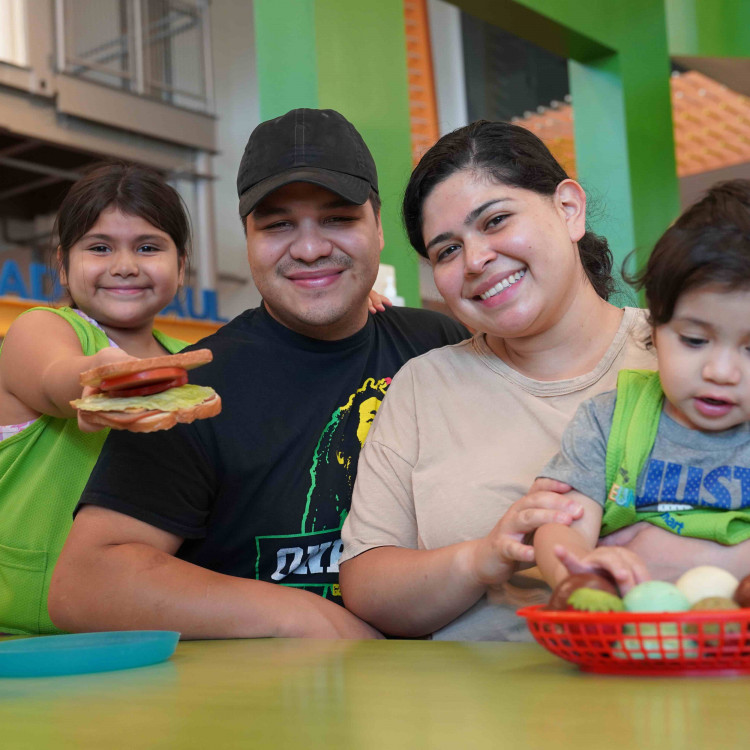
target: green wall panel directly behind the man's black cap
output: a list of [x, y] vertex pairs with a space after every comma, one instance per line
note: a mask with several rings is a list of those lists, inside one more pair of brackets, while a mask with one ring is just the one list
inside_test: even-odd
[[411, 173], [402, 0], [255, 0], [261, 119], [295, 107], [331, 108], [362, 133], [378, 166], [382, 260], [418, 306], [419, 269], [401, 227]]

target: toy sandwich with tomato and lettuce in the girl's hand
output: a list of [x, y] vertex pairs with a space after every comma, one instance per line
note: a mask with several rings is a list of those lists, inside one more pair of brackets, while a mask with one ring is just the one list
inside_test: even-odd
[[213, 388], [191, 385], [187, 371], [210, 362], [209, 349], [132, 359], [81, 373], [80, 383], [97, 392], [71, 401], [89, 422], [131, 432], [168, 430], [178, 422], [213, 417], [221, 398]]

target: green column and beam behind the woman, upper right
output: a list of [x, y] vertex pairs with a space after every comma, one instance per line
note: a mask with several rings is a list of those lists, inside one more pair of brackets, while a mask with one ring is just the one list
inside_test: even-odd
[[578, 177], [616, 266], [679, 210], [663, 0], [454, 0], [571, 62]]

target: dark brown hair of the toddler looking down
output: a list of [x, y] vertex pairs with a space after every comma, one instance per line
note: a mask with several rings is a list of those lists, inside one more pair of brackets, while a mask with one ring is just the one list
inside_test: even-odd
[[643, 289], [650, 323], [668, 323], [680, 296], [718, 285], [750, 288], [750, 180], [714, 185], [656, 243], [646, 267], [628, 279]]

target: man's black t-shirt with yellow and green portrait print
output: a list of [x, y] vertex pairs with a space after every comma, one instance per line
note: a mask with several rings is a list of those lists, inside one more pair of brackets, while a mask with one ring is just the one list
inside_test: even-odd
[[[341, 526], [359, 451], [408, 359], [468, 336], [437, 313], [389, 308], [319, 341], [248, 310], [196, 345], [190, 381], [216, 417], [151, 434], [112, 431], [81, 497], [183, 537], [177, 556], [341, 601]], [[193, 347], [196, 348], [196, 347]]]

